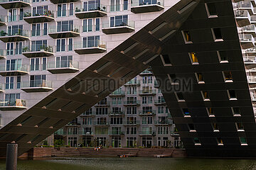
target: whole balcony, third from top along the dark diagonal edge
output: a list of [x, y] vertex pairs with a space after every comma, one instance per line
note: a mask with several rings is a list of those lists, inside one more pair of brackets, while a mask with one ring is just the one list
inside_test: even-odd
[[88, 40], [74, 44], [74, 50], [78, 55], [98, 54], [107, 51], [106, 42], [99, 40]]

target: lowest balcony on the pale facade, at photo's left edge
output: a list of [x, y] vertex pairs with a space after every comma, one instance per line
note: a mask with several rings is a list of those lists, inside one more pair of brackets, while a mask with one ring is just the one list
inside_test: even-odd
[[22, 99], [10, 99], [10, 101], [0, 101], [0, 111], [21, 111], [26, 109], [26, 101]]

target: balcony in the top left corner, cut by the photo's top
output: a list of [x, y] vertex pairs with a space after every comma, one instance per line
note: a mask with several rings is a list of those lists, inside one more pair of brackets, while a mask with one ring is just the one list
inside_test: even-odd
[[11, 1], [11, 0], [1, 0], [0, 5], [5, 8], [23, 8], [30, 5], [31, 1], [30, 0], [19, 0], [19, 1]]

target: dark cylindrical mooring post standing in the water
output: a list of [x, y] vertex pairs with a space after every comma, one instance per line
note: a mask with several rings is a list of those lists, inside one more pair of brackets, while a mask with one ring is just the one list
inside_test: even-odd
[[18, 144], [7, 144], [6, 170], [17, 169]]

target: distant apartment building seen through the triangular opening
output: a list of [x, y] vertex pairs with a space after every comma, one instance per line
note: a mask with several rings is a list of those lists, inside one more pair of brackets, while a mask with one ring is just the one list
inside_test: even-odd
[[146, 69], [55, 132], [54, 139], [71, 147], [181, 147], [157, 86]]

